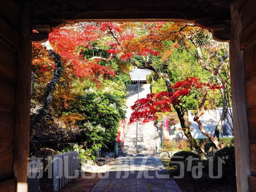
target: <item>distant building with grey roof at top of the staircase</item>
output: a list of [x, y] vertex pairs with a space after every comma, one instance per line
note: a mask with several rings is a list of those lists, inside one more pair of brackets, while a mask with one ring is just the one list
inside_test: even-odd
[[135, 67], [135, 69], [130, 71], [130, 78], [132, 80], [133, 84], [138, 84], [140, 81], [140, 84], [146, 84], [146, 75], [151, 74], [151, 70], [149, 69], [138, 69]]

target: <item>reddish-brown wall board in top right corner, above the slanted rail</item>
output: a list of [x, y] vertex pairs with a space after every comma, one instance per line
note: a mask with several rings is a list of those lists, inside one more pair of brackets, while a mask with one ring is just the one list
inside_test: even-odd
[[252, 0], [242, 12], [242, 28], [243, 31], [256, 20], [256, 1]]

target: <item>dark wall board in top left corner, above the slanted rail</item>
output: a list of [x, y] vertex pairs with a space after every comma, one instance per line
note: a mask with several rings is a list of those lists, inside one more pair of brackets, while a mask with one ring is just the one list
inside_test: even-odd
[[9, 25], [18, 31], [18, 11], [10, 0], [0, 0], [0, 17]]

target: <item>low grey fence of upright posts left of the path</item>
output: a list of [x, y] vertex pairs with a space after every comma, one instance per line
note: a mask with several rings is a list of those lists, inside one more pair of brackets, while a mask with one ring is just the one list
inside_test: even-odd
[[74, 178], [79, 177], [79, 151], [54, 155], [53, 157], [53, 188], [58, 191]]

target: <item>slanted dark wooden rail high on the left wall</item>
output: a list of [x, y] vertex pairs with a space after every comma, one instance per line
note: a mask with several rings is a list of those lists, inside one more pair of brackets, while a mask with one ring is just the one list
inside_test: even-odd
[[21, 47], [20, 34], [15, 31], [5, 20], [0, 17], [0, 37], [16, 49]]

